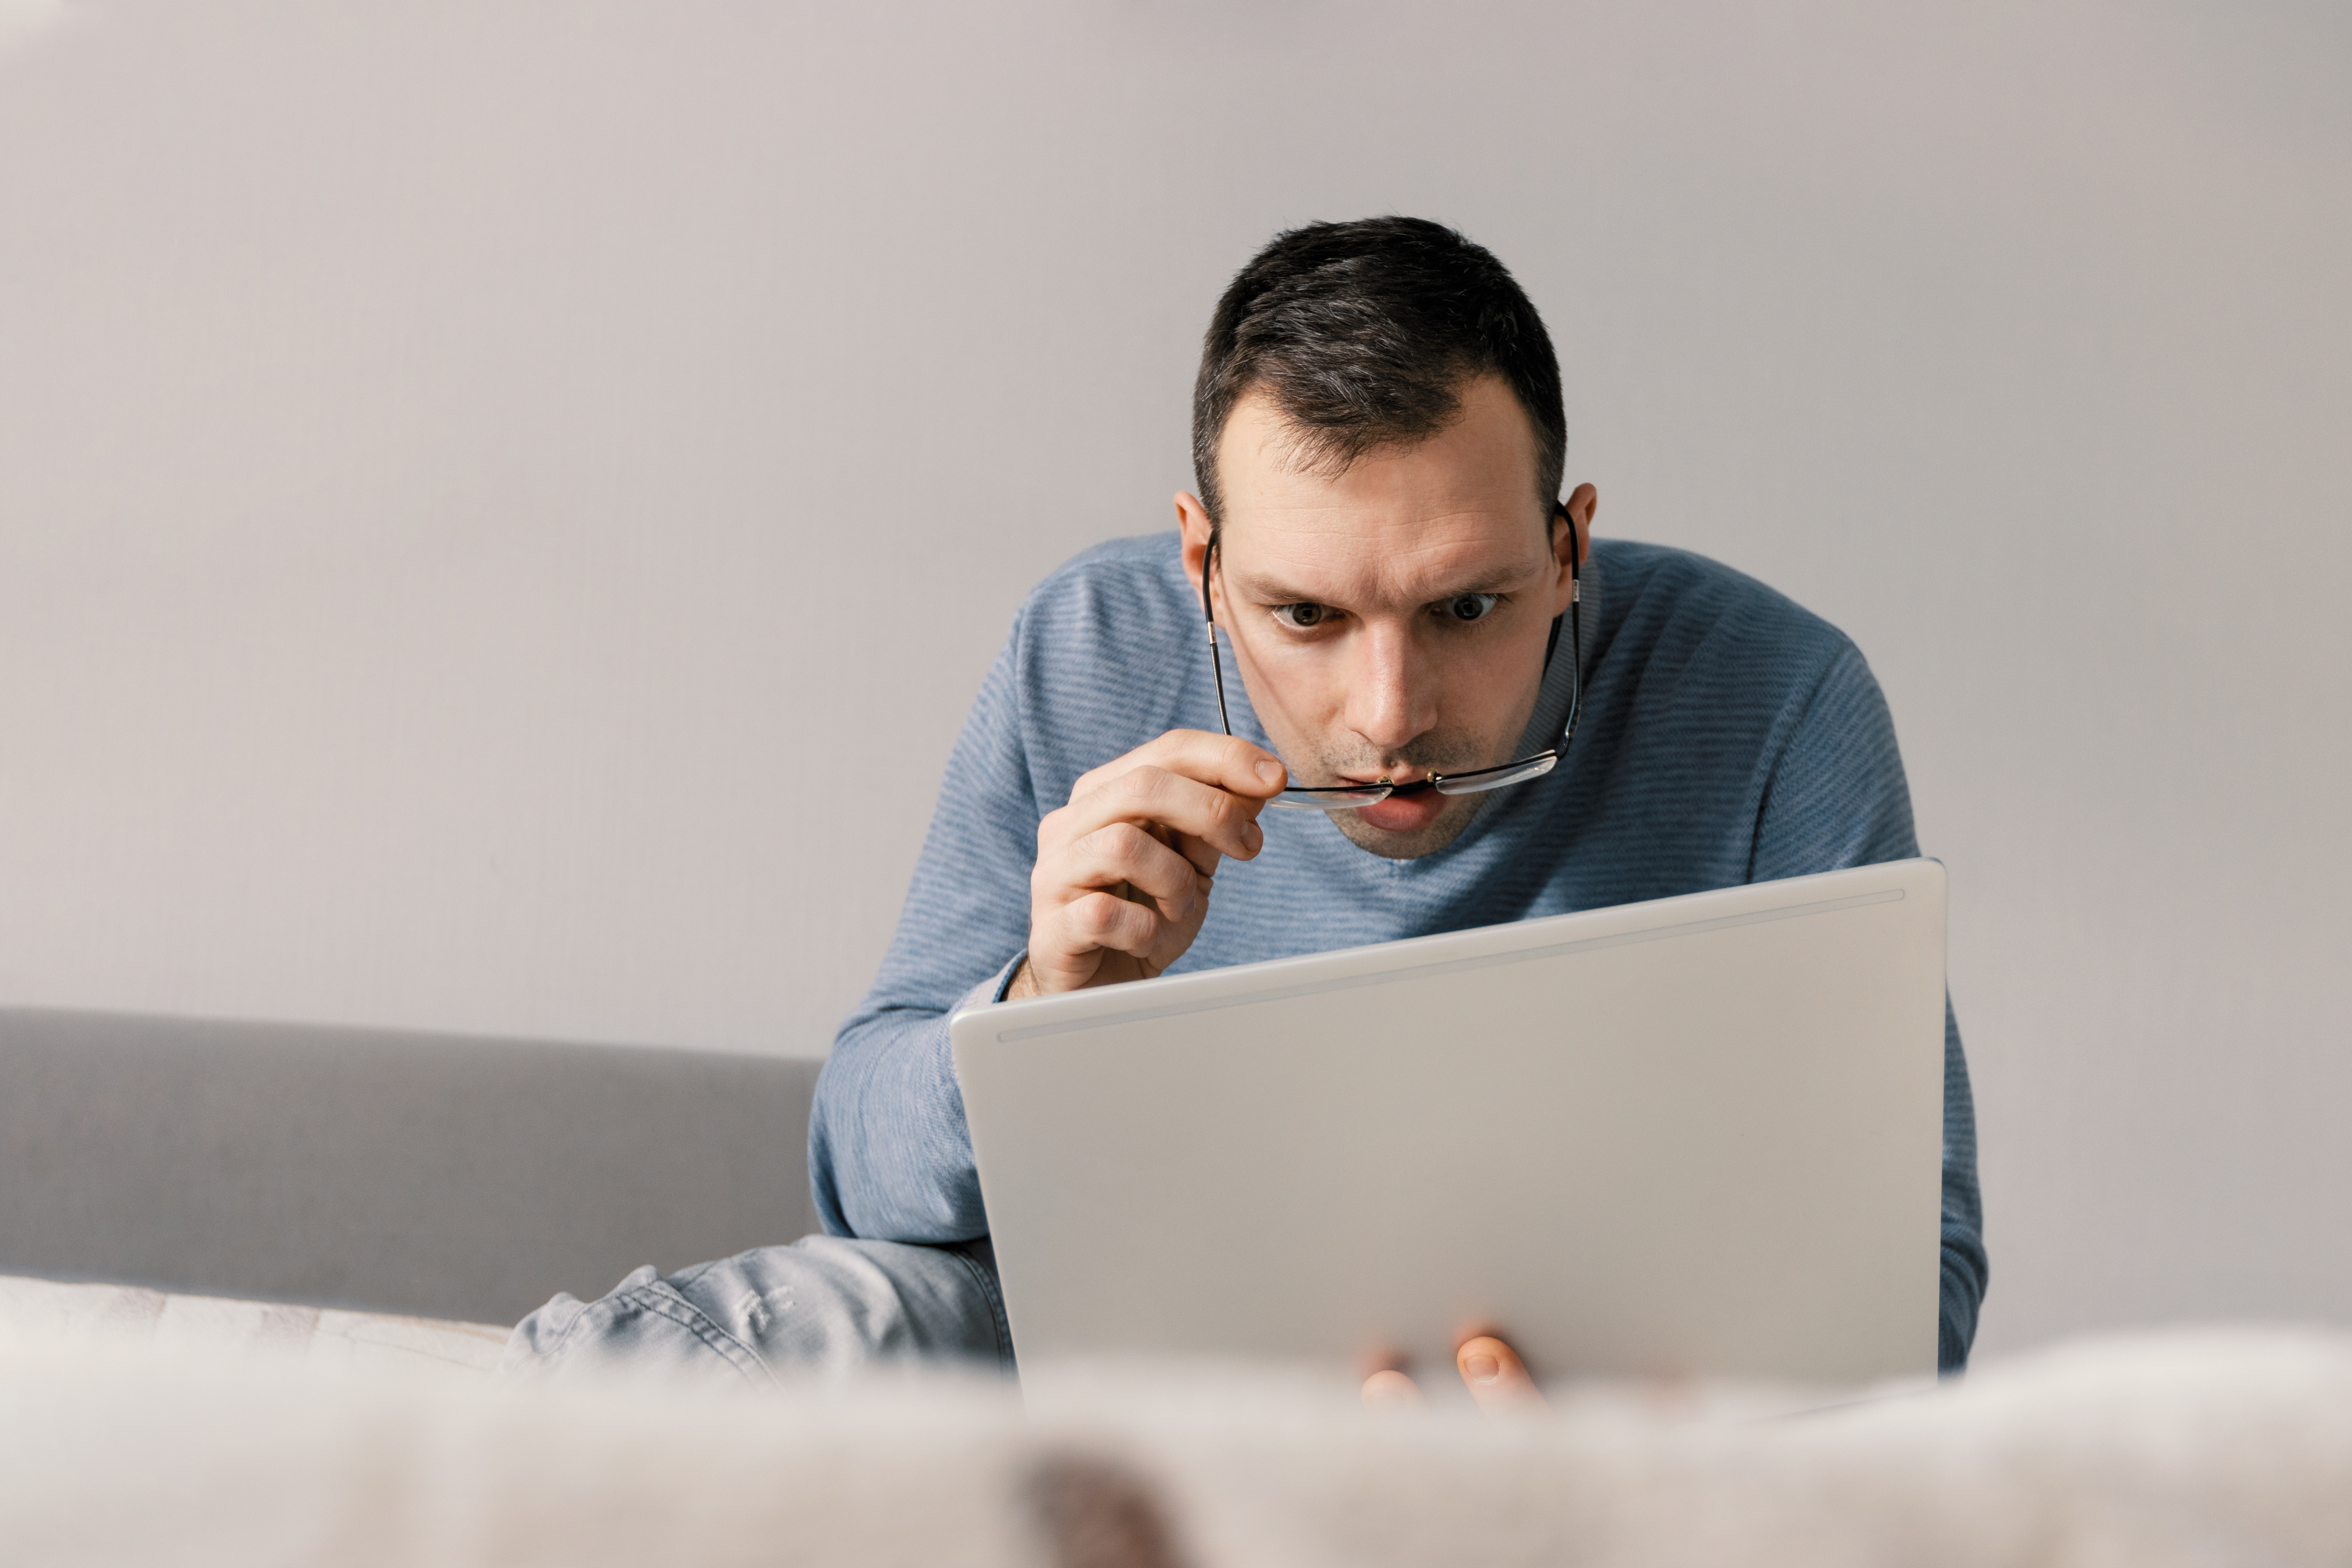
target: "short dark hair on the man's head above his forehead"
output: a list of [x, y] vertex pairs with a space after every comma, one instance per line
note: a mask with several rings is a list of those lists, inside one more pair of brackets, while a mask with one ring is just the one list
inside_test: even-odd
[[1216, 442], [1232, 404], [1265, 390], [1310, 468], [1345, 473], [1376, 447], [1428, 440], [1461, 388], [1501, 376], [1536, 430], [1536, 501], [1569, 456], [1559, 360], [1543, 317], [1482, 244], [1428, 219], [1308, 223], [1275, 235], [1216, 301], [1192, 383], [1192, 475], [1223, 522]]

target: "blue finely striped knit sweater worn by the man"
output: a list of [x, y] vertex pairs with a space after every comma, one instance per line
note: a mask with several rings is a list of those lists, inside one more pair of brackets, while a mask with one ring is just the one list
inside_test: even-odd
[[[1919, 853], [1879, 684], [1818, 616], [1705, 557], [1602, 541], [1585, 567], [1585, 715], [1566, 762], [1501, 790], [1446, 849], [1383, 860], [1315, 811], [1216, 875], [1171, 973], [1491, 926]], [[1559, 738], [1566, 637], [1519, 755]], [[1237, 679], [1235, 733], [1265, 743]], [[988, 1232], [948, 1013], [1000, 994], [1028, 940], [1037, 820], [1080, 773], [1169, 729], [1214, 729], [1200, 597], [1178, 536], [1087, 550], [1030, 592], [948, 759], [938, 811], [866, 1004], [809, 1117], [826, 1229]], [[1945, 1013], [1943, 1366], [1976, 1335], [1985, 1246], [1976, 1117]]]

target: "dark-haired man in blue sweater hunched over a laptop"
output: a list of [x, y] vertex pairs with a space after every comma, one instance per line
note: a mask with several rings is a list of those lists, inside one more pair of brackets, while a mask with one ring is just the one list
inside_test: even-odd
[[[1564, 456], [1550, 339], [1491, 254], [1418, 219], [1268, 244], [1209, 324], [1178, 531], [1061, 567], [981, 686], [818, 1081], [826, 1237], [557, 1298], [513, 1363], [1009, 1368], [957, 1006], [1915, 856], [1853, 644], [1700, 557], [1595, 548]], [[1578, 670], [1557, 766], [1508, 766], [1559, 745]], [[1957, 1371], [1985, 1251], [1950, 1011], [1943, 1194]], [[1501, 1338], [1461, 1368], [1531, 1392]]]

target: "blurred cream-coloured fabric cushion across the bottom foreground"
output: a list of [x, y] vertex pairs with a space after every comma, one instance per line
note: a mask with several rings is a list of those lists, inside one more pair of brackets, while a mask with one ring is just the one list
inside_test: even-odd
[[1482, 1420], [1167, 1363], [1033, 1368], [1021, 1392], [515, 1387], [266, 1354], [325, 1342], [327, 1314], [205, 1307], [167, 1331], [165, 1302], [141, 1335], [42, 1309], [0, 1312], [24, 1563], [2352, 1561], [2352, 1338], [2317, 1331], [2084, 1342], [1832, 1408], [1569, 1385], [1550, 1415]]

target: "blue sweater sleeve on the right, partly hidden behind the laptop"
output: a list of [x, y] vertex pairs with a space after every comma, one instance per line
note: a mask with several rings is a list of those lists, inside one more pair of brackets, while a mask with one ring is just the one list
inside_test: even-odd
[[[1846, 644], [1788, 731], [1757, 816], [1750, 882], [1919, 853], [1910, 785], [1877, 677]], [[1985, 1295], [1985, 1215], [1976, 1187], [1976, 1103], [1952, 1001], [1943, 1009], [1943, 1314], [1938, 1363], [1969, 1363]]]

